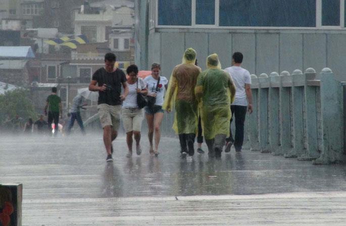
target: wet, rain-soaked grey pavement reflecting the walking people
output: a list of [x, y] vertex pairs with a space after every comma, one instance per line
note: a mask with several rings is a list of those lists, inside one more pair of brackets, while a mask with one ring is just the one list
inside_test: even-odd
[[[283, 203], [289, 208], [302, 206], [299, 211], [294, 210], [298, 212], [291, 209], [293, 216], [303, 211], [307, 203], [314, 206], [316, 201], [321, 203], [317, 205], [321, 208], [327, 206], [323, 208], [330, 211], [337, 208], [333, 209], [335, 219], [330, 218], [340, 223], [336, 224], [342, 225], [345, 220], [344, 214], [339, 213], [346, 210], [346, 165], [314, 166], [311, 162], [246, 149], [241, 153], [232, 149], [230, 154], [223, 153], [221, 160], [210, 160], [207, 154], [181, 160], [179, 140], [174, 138], [162, 138], [161, 154], [155, 158], [149, 155], [146, 140], [146, 135], [143, 135], [141, 156], [134, 153], [132, 158], [126, 158], [125, 137], [119, 137], [113, 142], [114, 162], [106, 163], [102, 134], [58, 138], [2, 136], [0, 183], [23, 183], [23, 225], [230, 225], [230, 222], [282, 225], [284, 222], [294, 224], [295, 221], [282, 221], [280, 211], [277, 215], [271, 211], [270, 215], [276, 219], [268, 220], [271, 223], [260, 212], [256, 212], [259, 218], [246, 221], [245, 217], [236, 221], [236, 215], [229, 215], [226, 209], [216, 207], [227, 206], [228, 211], [243, 215], [246, 212], [255, 214], [250, 210], [264, 208], [268, 203]], [[205, 145], [203, 147], [206, 149]], [[283, 195], [279, 202], [277, 193]], [[254, 194], [258, 196], [250, 197], [257, 200], [253, 202], [257, 204], [244, 199], [246, 195]], [[294, 199], [295, 204], [290, 199], [294, 198], [291, 194], [299, 197]], [[316, 194], [322, 195], [315, 197]], [[323, 194], [339, 195], [323, 198]], [[224, 198], [218, 200], [218, 197]], [[182, 202], [175, 202], [177, 200]], [[237, 203], [248, 207], [239, 212]], [[339, 204], [335, 206], [332, 203]], [[155, 211], [156, 205], [160, 213]], [[196, 206], [207, 209], [198, 210]], [[214, 217], [215, 214], [209, 214], [208, 220], [204, 219], [210, 206], [218, 209], [214, 210], [217, 216], [223, 216], [222, 219]], [[200, 217], [201, 221], [195, 221], [197, 223], [188, 221], [191, 220], [189, 214], [183, 214], [184, 218], [179, 212], [182, 209], [193, 212], [196, 208], [199, 214], [205, 212]], [[37, 209], [44, 212], [45, 217]], [[311, 214], [330, 214], [329, 210], [314, 207], [311, 211]], [[174, 214], [185, 221], [171, 221], [169, 216]], [[287, 214], [287, 211], [282, 210], [282, 214]], [[138, 217], [131, 221], [134, 215]], [[97, 217], [101, 218], [93, 220]], [[306, 223], [309, 222], [315, 223], [313, 219]]]

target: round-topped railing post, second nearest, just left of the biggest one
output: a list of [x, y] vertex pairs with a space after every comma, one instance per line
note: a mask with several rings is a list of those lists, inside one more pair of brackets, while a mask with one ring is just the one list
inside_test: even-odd
[[311, 161], [317, 159], [318, 152], [318, 130], [317, 130], [317, 107], [316, 107], [316, 88], [308, 86], [308, 81], [316, 79], [314, 68], [308, 68], [305, 71], [305, 112], [306, 112], [306, 133], [307, 133], [307, 150], [298, 160]]

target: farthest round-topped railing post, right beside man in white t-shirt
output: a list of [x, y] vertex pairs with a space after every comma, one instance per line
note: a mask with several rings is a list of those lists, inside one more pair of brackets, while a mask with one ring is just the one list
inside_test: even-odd
[[248, 132], [251, 144], [251, 150], [260, 150], [258, 137], [258, 90], [259, 81], [255, 74], [251, 74], [251, 89], [253, 94], [253, 113], [249, 115]]

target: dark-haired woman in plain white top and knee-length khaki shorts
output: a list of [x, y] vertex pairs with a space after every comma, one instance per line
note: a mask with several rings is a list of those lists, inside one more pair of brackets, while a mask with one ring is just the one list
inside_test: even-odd
[[146, 84], [141, 78], [138, 78], [138, 67], [132, 64], [126, 69], [128, 78], [127, 85], [129, 93], [122, 104], [122, 120], [126, 132], [126, 142], [128, 146], [128, 154], [126, 157], [132, 156], [132, 135], [136, 141], [136, 154], [139, 156], [142, 152], [140, 141], [140, 129], [143, 121], [143, 109], [138, 108], [137, 94], [147, 94]]

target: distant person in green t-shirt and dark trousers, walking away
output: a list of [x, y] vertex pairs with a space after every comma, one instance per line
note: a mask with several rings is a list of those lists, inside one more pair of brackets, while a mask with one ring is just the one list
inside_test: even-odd
[[[54, 121], [55, 129], [54, 135], [58, 133], [59, 116], [63, 115], [63, 106], [61, 104], [61, 98], [57, 95], [57, 88], [52, 88], [52, 94], [47, 97], [46, 104], [44, 107], [44, 115], [47, 115], [48, 109], [48, 129], [52, 131], [52, 122]], [[60, 115], [59, 115], [60, 113]]]

